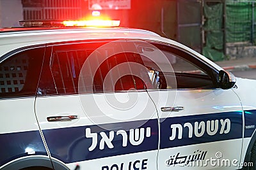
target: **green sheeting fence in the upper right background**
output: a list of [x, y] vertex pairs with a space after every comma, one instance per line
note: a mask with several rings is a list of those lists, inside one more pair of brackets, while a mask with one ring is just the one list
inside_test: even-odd
[[226, 46], [255, 45], [256, 1], [204, 1], [205, 44], [202, 53], [211, 60], [227, 59]]

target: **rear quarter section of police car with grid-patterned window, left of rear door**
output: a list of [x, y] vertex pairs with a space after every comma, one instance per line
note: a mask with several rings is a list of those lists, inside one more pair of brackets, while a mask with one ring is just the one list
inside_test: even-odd
[[0, 169], [52, 168], [34, 110], [44, 52], [26, 46], [0, 57]]

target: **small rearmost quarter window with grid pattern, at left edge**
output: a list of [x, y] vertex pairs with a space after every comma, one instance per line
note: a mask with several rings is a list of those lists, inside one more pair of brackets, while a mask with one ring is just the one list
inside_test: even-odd
[[0, 62], [0, 97], [35, 96], [44, 49], [22, 51]]

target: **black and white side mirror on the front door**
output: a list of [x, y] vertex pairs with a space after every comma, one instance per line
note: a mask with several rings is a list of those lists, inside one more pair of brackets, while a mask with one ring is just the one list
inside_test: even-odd
[[236, 76], [234, 74], [221, 70], [219, 72], [219, 86], [221, 89], [230, 89], [234, 87], [236, 83]]

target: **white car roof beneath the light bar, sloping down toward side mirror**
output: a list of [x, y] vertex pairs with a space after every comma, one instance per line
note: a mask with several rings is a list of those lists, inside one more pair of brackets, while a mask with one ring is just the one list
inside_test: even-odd
[[159, 34], [143, 29], [121, 27], [16, 27], [0, 29], [0, 56], [24, 46], [44, 45], [63, 41], [95, 40], [95, 39], [144, 39], [161, 41], [179, 46], [190, 53], [194, 53], [216, 69], [221, 67], [211, 60], [195, 52], [188, 46], [172, 39], [163, 38]]

